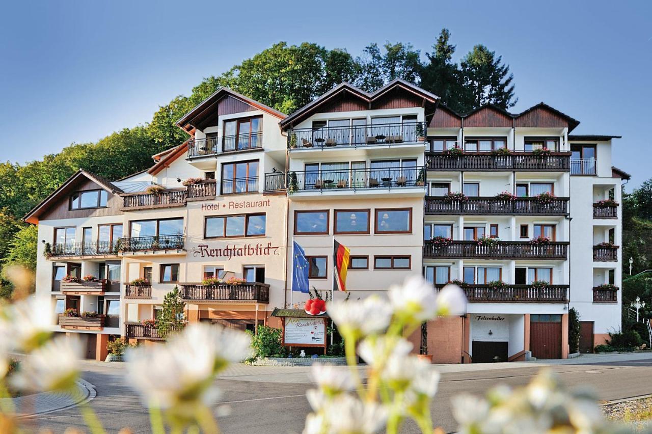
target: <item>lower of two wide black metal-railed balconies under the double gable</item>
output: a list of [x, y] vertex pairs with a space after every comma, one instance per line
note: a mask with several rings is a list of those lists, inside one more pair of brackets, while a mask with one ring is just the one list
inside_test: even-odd
[[[336, 190], [424, 189], [423, 167], [405, 169], [344, 169], [323, 171], [291, 171], [288, 179], [279, 173], [265, 173], [265, 191], [324, 193]], [[269, 190], [268, 190], [269, 189]]]

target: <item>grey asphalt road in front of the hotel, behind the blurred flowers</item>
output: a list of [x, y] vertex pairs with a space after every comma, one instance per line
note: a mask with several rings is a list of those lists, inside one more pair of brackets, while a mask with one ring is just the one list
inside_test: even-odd
[[[580, 358], [581, 359], [581, 358]], [[652, 394], [652, 358], [625, 360], [614, 363], [582, 363], [552, 366], [562, 381], [570, 387], [590, 386], [604, 401]], [[519, 367], [443, 373], [432, 414], [436, 426], [452, 432], [456, 424], [451, 414], [451, 397], [459, 392], [482, 394], [503, 383], [518, 386], [528, 383], [538, 367]], [[93, 409], [110, 433], [130, 427], [135, 433], [149, 433], [149, 414], [138, 397], [126, 385], [123, 369], [102, 364], [90, 365], [83, 378], [95, 384], [97, 397]], [[310, 411], [304, 397], [310, 384], [264, 383], [231, 379], [216, 380], [224, 392], [222, 401], [230, 414], [218, 421], [223, 433], [301, 433], [304, 419]], [[63, 433], [66, 427], [83, 427], [78, 409], [44, 414], [33, 418], [30, 431], [48, 427]], [[418, 432], [406, 425], [404, 432]]]

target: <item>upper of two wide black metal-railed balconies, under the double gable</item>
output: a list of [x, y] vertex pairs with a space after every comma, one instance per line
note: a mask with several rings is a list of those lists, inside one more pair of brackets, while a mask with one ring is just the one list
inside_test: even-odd
[[288, 131], [288, 148], [295, 151], [424, 143], [425, 137], [418, 135], [424, 128], [422, 122], [295, 128]]

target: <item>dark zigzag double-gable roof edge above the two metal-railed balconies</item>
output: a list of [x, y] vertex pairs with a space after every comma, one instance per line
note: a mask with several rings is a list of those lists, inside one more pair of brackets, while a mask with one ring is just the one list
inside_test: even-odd
[[419, 98], [423, 98], [424, 100], [430, 102], [431, 104], [436, 104], [437, 101], [439, 101], [439, 96], [436, 94], [430, 93], [426, 91], [425, 89], [421, 89], [421, 87], [417, 85], [413, 85], [412, 83], [409, 83], [409, 81], [402, 80], [401, 78], [395, 78], [394, 80], [390, 81], [380, 89], [374, 91], [374, 92], [365, 92], [359, 87], [355, 87], [351, 83], [347, 83], [344, 81], [343, 83], [340, 83], [333, 87], [330, 91], [327, 93], [322, 94], [318, 98], [312, 100], [302, 108], [298, 109], [282, 121], [280, 121], [280, 126], [282, 128], [289, 128], [292, 124], [301, 122], [304, 118], [310, 116], [310, 114], [314, 111], [314, 109], [318, 108], [322, 104], [325, 104], [331, 98], [334, 98], [334, 96], [340, 94], [340, 93], [350, 93], [356, 98], [360, 98], [367, 104], [371, 104], [375, 100], [378, 100], [382, 96], [384, 96], [386, 93], [389, 91], [400, 88], [408, 91], [409, 93], [415, 94], [415, 96], [419, 96]]

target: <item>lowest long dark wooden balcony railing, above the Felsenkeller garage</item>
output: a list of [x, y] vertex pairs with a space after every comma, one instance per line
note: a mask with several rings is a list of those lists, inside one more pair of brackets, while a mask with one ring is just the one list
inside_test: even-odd
[[566, 303], [569, 301], [569, 285], [507, 285], [496, 289], [488, 285], [467, 285], [467, 300], [476, 303]]

